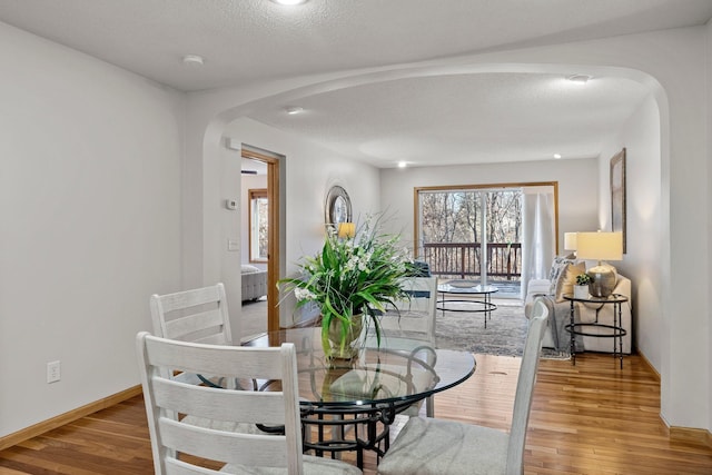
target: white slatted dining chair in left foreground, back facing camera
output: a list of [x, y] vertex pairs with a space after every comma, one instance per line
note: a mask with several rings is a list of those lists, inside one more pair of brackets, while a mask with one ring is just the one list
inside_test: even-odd
[[[293, 344], [257, 348], [136, 337], [141, 385], [158, 475], [360, 474], [353, 465], [303, 455], [297, 360]], [[176, 380], [174, 368], [225, 378], [280, 382], [280, 390], [236, 390]], [[275, 385], [273, 385], [274, 388]], [[222, 422], [214, 428], [188, 417]], [[235, 424], [283, 425], [283, 435], [234, 432]]]

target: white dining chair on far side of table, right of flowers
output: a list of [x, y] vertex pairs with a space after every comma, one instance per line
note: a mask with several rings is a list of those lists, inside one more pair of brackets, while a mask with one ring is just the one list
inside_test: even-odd
[[[409, 298], [394, 301], [394, 306], [380, 317], [382, 339], [397, 337], [388, 342], [392, 349], [402, 349], [404, 352], [418, 347], [418, 342], [423, 342], [423, 346], [435, 348], [435, 319], [437, 305], [437, 277], [406, 277], [403, 279], [403, 287], [409, 295]], [[414, 344], [415, 343], [415, 344]], [[370, 333], [366, 339], [368, 347], [375, 347], [378, 343], [376, 336]], [[398, 345], [402, 344], [402, 348]], [[417, 352], [417, 350], [416, 350]], [[435, 354], [427, 350], [421, 350], [418, 356], [429, 364], [434, 362]], [[404, 414], [417, 416], [422, 403], [414, 404]], [[435, 416], [435, 404], [433, 396], [425, 399], [426, 415]]]

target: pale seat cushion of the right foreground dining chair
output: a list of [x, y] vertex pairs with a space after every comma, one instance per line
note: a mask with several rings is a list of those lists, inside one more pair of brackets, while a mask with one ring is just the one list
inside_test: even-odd
[[506, 469], [508, 434], [452, 420], [409, 419], [378, 465], [382, 475], [496, 475]]

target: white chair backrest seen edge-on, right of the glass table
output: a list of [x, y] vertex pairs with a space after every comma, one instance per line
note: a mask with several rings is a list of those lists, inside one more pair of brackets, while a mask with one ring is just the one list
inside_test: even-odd
[[542, 353], [542, 338], [548, 318], [548, 307], [541, 297], [534, 300], [534, 309], [530, 319], [530, 329], [524, 345], [524, 355], [520, 367], [520, 376], [516, 383], [514, 396], [514, 410], [512, 415], [512, 428], [507, 447], [507, 471], [511, 474], [521, 474], [524, 463], [524, 444], [526, 442], [526, 427], [530, 422], [536, 369]]

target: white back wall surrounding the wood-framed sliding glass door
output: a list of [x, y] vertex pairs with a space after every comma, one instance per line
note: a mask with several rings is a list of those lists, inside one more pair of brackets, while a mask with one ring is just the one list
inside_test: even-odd
[[596, 159], [530, 161], [500, 165], [463, 165], [392, 168], [380, 172], [382, 206], [393, 215], [390, 232], [402, 232], [413, 246], [415, 187], [494, 185], [558, 181], [558, 249], [564, 232], [595, 230], [597, 220]]

